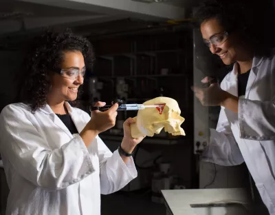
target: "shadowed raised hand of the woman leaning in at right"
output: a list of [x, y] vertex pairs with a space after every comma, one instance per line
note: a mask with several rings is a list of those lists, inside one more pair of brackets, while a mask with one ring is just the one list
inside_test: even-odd
[[[208, 77], [201, 80], [202, 83], [208, 83]], [[221, 90], [219, 83], [211, 83], [208, 88], [192, 87], [195, 96], [203, 106], [219, 106], [226, 99], [227, 92]]]

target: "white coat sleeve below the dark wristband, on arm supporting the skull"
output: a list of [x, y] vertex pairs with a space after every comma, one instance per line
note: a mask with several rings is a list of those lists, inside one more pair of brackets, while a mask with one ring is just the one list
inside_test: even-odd
[[111, 153], [100, 137], [98, 137], [98, 158], [101, 194], [116, 192], [137, 177], [133, 158], [130, 157], [128, 163], [125, 164], [118, 150]]

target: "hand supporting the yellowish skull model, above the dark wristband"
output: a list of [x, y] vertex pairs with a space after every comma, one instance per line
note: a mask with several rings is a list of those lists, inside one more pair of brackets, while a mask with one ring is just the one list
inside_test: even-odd
[[124, 130], [124, 137], [121, 143], [121, 147], [122, 149], [131, 154], [133, 152], [133, 149], [135, 148], [135, 146], [140, 143], [145, 136], [141, 136], [139, 138], [133, 138], [131, 136], [131, 127], [130, 125], [135, 123], [133, 118], [128, 118], [126, 119], [126, 121], [124, 121], [123, 123], [123, 130]]

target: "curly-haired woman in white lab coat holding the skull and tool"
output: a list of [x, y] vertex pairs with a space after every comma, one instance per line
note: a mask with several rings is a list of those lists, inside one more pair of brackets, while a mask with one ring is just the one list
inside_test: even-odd
[[76, 99], [93, 61], [89, 41], [71, 32], [46, 32], [33, 41], [22, 71], [23, 102], [6, 106], [0, 116], [10, 187], [6, 214], [99, 215], [100, 194], [137, 176], [131, 153], [142, 138], [131, 138], [133, 119], [125, 121], [112, 154], [98, 134], [115, 125], [118, 104], [90, 117], [67, 102]]

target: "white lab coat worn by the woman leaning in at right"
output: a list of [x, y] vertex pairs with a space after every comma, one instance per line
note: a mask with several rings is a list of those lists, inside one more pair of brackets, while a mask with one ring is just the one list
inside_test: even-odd
[[[237, 65], [221, 88], [238, 96]], [[239, 113], [221, 107], [203, 160], [219, 165], [245, 161], [270, 214], [275, 215], [275, 57], [254, 57]]]

